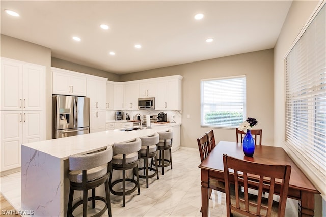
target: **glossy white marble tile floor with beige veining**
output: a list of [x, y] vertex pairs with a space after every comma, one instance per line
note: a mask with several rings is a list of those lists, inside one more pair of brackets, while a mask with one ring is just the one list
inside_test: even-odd
[[[149, 180], [146, 188], [146, 179], [140, 179], [141, 194], [137, 191], [126, 196], [126, 206], [122, 207], [122, 196], [110, 194], [113, 216], [201, 216], [201, 181], [200, 157], [198, 149], [181, 148], [172, 153], [173, 170], [165, 168], [159, 180], [156, 176]], [[20, 206], [20, 172], [0, 178], [1, 193], [16, 209]], [[298, 216], [295, 212], [296, 201], [288, 199], [286, 216]], [[98, 202], [98, 207], [101, 207]], [[97, 209], [97, 208], [96, 208]], [[294, 210], [294, 211], [293, 211]], [[96, 210], [93, 210], [96, 212]], [[82, 208], [76, 209], [74, 214], [81, 213]], [[90, 212], [91, 214], [92, 212]], [[107, 216], [107, 212], [103, 216]], [[225, 194], [213, 190], [209, 200], [209, 215], [226, 216]], [[80, 215], [81, 216], [81, 215]]]

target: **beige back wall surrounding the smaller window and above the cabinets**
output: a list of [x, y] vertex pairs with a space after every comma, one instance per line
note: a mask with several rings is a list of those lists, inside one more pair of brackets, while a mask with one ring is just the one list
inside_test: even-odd
[[[273, 49], [125, 74], [120, 80], [178, 74], [183, 76], [181, 146], [197, 148], [197, 138], [211, 129], [200, 126], [200, 80], [237, 75], [247, 76], [247, 116], [258, 120], [263, 144], [274, 144]], [[235, 141], [234, 129], [213, 130], [216, 141]]]

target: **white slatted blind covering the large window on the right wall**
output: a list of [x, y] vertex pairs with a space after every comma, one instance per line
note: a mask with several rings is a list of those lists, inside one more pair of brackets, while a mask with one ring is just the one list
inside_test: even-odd
[[285, 58], [286, 144], [326, 179], [325, 5]]

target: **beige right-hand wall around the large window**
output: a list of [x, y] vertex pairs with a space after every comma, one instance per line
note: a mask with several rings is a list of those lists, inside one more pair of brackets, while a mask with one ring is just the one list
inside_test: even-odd
[[290, 50], [296, 37], [308, 23], [309, 19], [315, 12], [320, 1], [293, 1], [288, 12], [287, 18], [283, 24], [283, 28], [279, 35], [274, 51], [274, 142], [277, 146], [283, 147], [306, 174], [306, 176], [314, 183], [315, 187], [322, 192], [320, 195], [315, 195], [315, 216], [326, 216], [326, 189], [324, 180], [320, 180], [311, 168], [304, 163], [302, 158], [298, 158], [285, 145], [285, 66], [284, 57]]

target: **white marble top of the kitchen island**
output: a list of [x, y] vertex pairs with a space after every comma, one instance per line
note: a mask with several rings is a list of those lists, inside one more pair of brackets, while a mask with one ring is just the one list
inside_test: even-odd
[[113, 145], [115, 142], [130, 141], [156, 132], [167, 131], [168, 129], [169, 128], [164, 126], [153, 126], [151, 129], [143, 128], [142, 130], [133, 131], [107, 130], [22, 145], [65, 160], [72, 154], [89, 153], [100, 150], [107, 145]]

